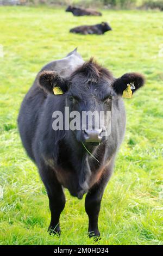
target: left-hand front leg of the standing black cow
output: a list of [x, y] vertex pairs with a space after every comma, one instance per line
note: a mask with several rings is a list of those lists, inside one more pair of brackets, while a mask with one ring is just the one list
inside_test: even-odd
[[65, 207], [65, 194], [55, 176], [54, 170], [51, 168], [46, 168], [46, 170], [43, 169], [43, 171], [40, 172], [40, 175], [47, 190], [49, 208], [51, 210], [51, 223], [49, 224], [48, 231], [49, 234], [60, 235], [59, 218]]

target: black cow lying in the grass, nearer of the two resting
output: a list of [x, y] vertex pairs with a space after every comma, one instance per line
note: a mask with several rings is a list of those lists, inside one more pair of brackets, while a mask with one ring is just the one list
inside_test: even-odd
[[93, 25], [93, 26], [79, 26], [70, 29], [71, 33], [77, 33], [77, 34], [97, 34], [102, 35], [107, 31], [112, 30], [111, 27], [107, 22], [102, 22], [101, 24]]

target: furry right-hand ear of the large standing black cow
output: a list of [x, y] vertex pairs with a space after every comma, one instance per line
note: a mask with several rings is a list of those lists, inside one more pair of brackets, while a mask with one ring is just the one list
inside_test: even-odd
[[117, 78], [114, 81], [113, 87], [117, 94], [122, 95], [123, 91], [127, 88], [128, 84], [131, 84], [132, 92], [134, 93], [137, 89], [143, 86], [145, 78], [138, 73], [127, 73]]

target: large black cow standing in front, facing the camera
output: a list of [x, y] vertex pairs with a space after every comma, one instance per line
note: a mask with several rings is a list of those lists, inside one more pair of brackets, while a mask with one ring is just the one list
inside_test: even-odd
[[[81, 60], [80, 56], [78, 58]], [[61, 62], [64, 65], [65, 59]], [[71, 66], [68, 63], [62, 76], [56, 71], [58, 62], [46, 65], [39, 72], [22, 102], [18, 128], [24, 148], [36, 163], [47, 190], [51, 209], [49, 233], [60, 234], [59, 218], [65, 207], [65, 187], [79, 199], [86, 193], [89, 236], [99, 236], [101, 200], [126, 126], [122, 93], [129, 83], [134, 84], [135, 92], [143, 86], [144, 79], [136, 73], [114, 78], [93, 59], [78, 65], [74, 64], [76, 69], [73, 68], [68, 76], [65, 71]], [[63, 94], [54, 95], [53, 89], [58, 87]], [[102, 123], [99, 129], [89, 130], [85, 126], [83, 129], [82, 121], [79, 130], [54, 130], [52, 115], [54, 111], [65, 114], [65, 107], [69, 107], [71, 113], [78, 111], [81, 114], [82, 111], [106, 114], [111, 109], [111, 119]], [[108, 126], [111, 127], [110, 135], [105, 134]]]

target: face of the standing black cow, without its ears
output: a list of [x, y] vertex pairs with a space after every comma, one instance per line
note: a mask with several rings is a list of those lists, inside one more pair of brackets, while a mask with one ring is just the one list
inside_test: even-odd
[[112, 100], [116, 96], [111, 87], [112, 75], [108, 72], [107, 77], [100, 77], [93, 65], [87, 64], [74, 72], [66, 97], [70, 112], [80, 114], [80, 127], [77, 125], [73, 133], [77, 141], [87, 145], [98, 145], [108, 138]]

